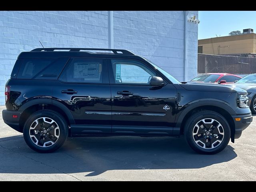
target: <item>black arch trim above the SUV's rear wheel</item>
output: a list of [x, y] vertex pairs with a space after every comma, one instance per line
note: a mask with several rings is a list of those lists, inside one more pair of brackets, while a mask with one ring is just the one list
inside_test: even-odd
[[28, 107], [36, 105], [36, 104], [50, 104], [52, 106], [56, 106], [58, 108], [60, 108], [68, 117], [68, 120], [70, 122], [70, 124], [75, 124], [75, 120], [74, 117], [72, 115], [72, 113], [70, 112], [70, 110], [62, 103], [58, 102], [57, 100], [52, 100], [52, 99], [45, 99], [45, 98], [38, 98], [38, 99], [34, 99], [34, 100], [30, 100], [28, 102], [26, 102], [25, 104], [23, 104], [18, 111], [24, 111], [26, 110]]

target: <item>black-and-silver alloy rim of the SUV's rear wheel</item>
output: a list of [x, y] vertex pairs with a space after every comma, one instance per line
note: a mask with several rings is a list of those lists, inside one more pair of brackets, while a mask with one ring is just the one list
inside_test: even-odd
[[31, 124], [29, 128], [30, 139], [40, 147], [52, 146], [60, 136], [58, 124], [48, 117], [41, 117]]

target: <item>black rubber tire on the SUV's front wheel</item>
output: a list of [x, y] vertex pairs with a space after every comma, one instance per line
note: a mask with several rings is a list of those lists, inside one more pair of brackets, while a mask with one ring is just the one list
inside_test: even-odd
[[[204, 122], [207, 121], [206, 124], [202, 124], [202, 120], [204, 120]], [[210, 121], [213, 121], [212, 124], [210, 123]], [[202, 124], [202, 126], [196, 126], [200, 124]], [[219, 126], [220, 124], [221, 126]], [[210, 132], [209, 130], [212, 132]], [[200, 134], [201, 132], [202, 134]], [[201, 154], [216, 154], [226, 148], [230, 140], [231, 132], [227, 120], [221, 114], [218, 114], [214, 111], [203, 110], [200, 112], [196, 112], [195, 114], [190, 116], [190, 118], [188, 118], [185, 124], [184, 134], [189, 146], [196, 152]], [[193, 136], [193, 134], [196, 135]], [[211, 135], [206, 138], [206, 134]], [[224, 134], [224, 136], [222, 134]], [[221, 138], [222, 140], [220, 141], [219, 139], [216, 139], [216, 135], [219, 139]], [[214, 138], [214, 136], [216, 136], [216, 138]], [[196, 142], [198, 142], [198, 144]], [[214, 142], [216, 143], [214, 144]]]

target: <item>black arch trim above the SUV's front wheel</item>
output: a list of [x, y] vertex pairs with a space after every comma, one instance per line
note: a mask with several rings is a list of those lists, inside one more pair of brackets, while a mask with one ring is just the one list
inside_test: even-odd
[[203, 107], [203, 106], [215, 106], [222, 108], [226, 110], [230, 115], [236, 115], [236, 112], [224, 101], [222, 100], [207, 100], [208, 98], [205, 99], [200, 99], [200, 100], [195, 100], [193, 102], [190, 102], [184, 106], [184, 110], [180, 112], [180, 115], [177, 118], [176, 121], [176, 127], [180, 127], [184, 117], [193, 109], [198, 108], [198, 107]]

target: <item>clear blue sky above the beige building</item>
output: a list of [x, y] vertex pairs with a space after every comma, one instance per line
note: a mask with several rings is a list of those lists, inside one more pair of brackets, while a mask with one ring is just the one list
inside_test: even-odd
[[231, 31], [252, 28], [256, 33], [256, 11], [199, 11], [198, 39], [228, 36]]

